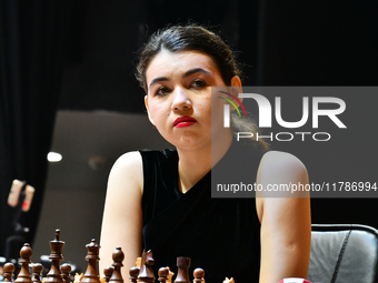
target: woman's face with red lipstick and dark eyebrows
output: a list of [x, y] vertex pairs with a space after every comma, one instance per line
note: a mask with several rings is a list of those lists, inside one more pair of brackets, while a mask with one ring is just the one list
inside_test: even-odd
[[162, 50], [150, 62], [146, 81], [149, 119], [168, 142], [180, 149], [211, 145], [211, 87], [225, 82], [210, 57]]

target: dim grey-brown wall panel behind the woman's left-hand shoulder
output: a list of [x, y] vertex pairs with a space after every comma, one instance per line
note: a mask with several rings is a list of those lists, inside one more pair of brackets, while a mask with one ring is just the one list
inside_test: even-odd
[[[64, 262], [72, 262], [84, 272], [86, 244], [93, 237], [100, 240], [111, 165], [125, 152], [163, 148], [172, 146], [150, 124], [147, 114], [60, 111], [51, 150], [61, 153], [63, 159], [49, 164], [32, 262], [50, 254], [49, 241], [59, 228], [61, 240], [66, 242]], [[93, 155], [103, 159], [97, 169], [89, 165]]]

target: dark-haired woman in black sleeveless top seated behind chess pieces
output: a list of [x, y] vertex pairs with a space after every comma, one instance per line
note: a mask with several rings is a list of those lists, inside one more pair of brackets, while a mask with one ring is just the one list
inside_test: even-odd
[[137, 78], [148, 117], [177, 150], [129, 152], [115, 163], [102, 222], [102, 267], [119, 245], [126, 271], [142, 249], [151, 249], [156, 269], [175, 271], [176, 257], [189, 256], [208, 282], [307, 276], [309, 198], [211, 199], [210, 172], [236, 168], [235, 152], [247, 154], [247, 174], [265, 188], [308, 183], [297, 158], [240, 150], [222, 121], [211, 124], [211, 87], [240, 89], [239, 73], [229, 48], [201, 27], [171, 27], [146, 44]]

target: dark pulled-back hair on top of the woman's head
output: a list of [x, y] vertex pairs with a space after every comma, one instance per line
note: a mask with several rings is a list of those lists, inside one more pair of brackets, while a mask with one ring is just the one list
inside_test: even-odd
[[233, 75], [241, 74], [232, 51], [218, 34], [200, 26], [172, 26], [153, 33], [140, 53], [136, 77], [146, 92], [147, 68], [161, 50], [170, 52], [191, 50], [210, 55], [226, 85], [230, 85]]

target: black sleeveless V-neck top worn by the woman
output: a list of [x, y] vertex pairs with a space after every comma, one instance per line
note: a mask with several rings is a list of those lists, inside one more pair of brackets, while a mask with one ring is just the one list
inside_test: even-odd
[[[151, 250], [155, 274], [169, 266], [177, 274], [177, 256], [191, 257], [190, 276], [205, 270], [208, 283], [233, 277], [237, 283], [258, 282], [260, 222], [252, 199], [211, 199], [211, 174], [228, 168], [238, 178], [240, 158], [252, 182], [262, 153], [233, 142], [223, 159], [187, 193], [181, 193], [178, 154], [173, 150], [140, 151], [143, 162], [143, 249]], [[238, 172], [232, 172], [238, 169]], [[220, 170], [219, 172], [225, 172]], [[239, 174], [240, 175], [240, 174]], [[239, 179], [238, 179], [239, 180]]]

